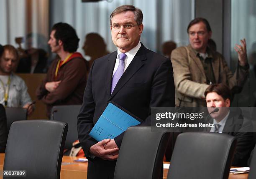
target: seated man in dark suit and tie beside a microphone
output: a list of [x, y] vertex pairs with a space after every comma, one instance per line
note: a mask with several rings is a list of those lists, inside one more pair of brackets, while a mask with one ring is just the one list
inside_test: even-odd
[[[233, 158], [233, 166], [246, 166], [247, 160], [253, 149], [252, 123], [243, 117], [240, 108], [230, 108], [232, 93], [225, 84], [210, 85], [206, 91], [206, 104], [208, 112], [215, 108], [218, 112], [210, 114], [206, 124], [214, 124], [206, 130], [235, 136], [237, 139], [236, 151]], [[215, 141], [218, 142], [218, 141]]]

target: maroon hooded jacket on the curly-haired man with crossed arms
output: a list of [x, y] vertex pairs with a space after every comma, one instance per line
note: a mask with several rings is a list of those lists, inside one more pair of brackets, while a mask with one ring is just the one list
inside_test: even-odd
[[[79, 55], [76, 55], [79, 56]], [[46, 78], [36, 90], [36, 96], [47, 106], [47, 116], [50, 118], [51, 108], [56, 105], [82, 104], [84, 89], [87, 82], [87, 61], [80, 57], [74, 57], [59, 68], [55, 78], [56, 66], [59, 59], [55, 59], [47, 73]], [[49, 92], [45, 83], [60, 81], [55, 91]]]

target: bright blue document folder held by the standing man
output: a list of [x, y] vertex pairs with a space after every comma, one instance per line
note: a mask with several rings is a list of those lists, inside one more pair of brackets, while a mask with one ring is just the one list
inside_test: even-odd
[[128, 127], [141, 124], [140, 121], [139, 118], [110, 101], [89, 135], [97, 141], [114, 139]]

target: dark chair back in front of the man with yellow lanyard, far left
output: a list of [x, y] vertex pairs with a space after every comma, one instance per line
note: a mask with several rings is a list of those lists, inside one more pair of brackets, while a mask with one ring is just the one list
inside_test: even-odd
[[10, 126], [14, 121], [27, 120], [27, 110], [24, 108], [5, 108], [7, 131], [9, 132]]

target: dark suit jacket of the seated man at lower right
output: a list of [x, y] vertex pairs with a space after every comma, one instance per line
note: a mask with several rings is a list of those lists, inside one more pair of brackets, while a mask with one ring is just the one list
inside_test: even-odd
[[[209, 122], [212, 123], [211, 118]], [[207, 129], [210, 131], [210, 128]], [[223, 133], [235, 136], [237, 139], [236, 151], [232, 166], [247, 166], [248, 158], [253, 149], [253, 128], [251, 121], [243, 118], [239, 108], [230, 108], [230, 114], [223, 129]]]

